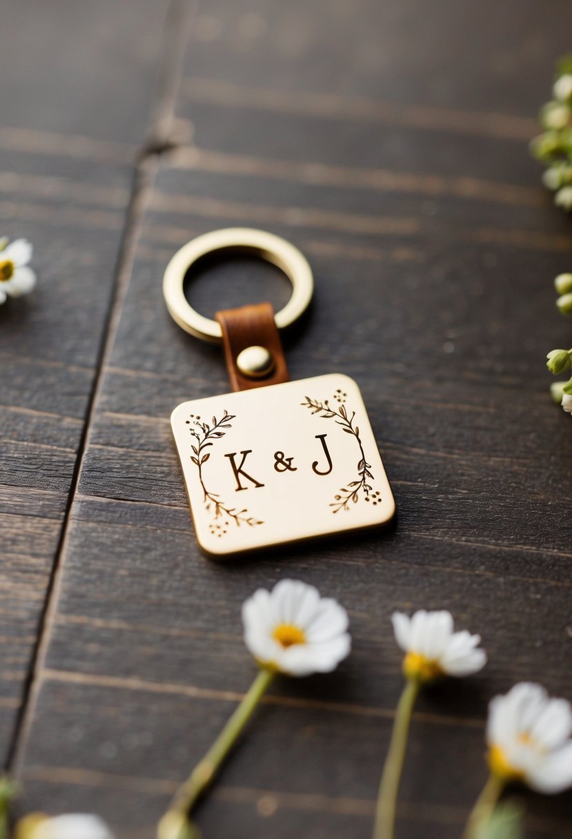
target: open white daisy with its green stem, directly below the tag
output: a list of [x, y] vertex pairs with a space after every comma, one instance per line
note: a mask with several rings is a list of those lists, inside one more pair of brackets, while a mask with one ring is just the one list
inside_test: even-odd
[[216, 778], [231, 748], [277, 673], [330, 673], [351, 648], [344, 608], [320, 597], [314, 586], [283, 580], [272, 591], [258, 589], [242, 605], [244, 643], [260, 670], [211, 748], [191, 772], [161, 821], [158, 839], [198, 839], [191, 821], [196, 802]]

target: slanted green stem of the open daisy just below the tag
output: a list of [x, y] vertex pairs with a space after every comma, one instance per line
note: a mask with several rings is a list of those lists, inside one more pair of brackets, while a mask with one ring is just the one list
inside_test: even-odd
[[274, 678], [274, 671], [268, 667], [262, 667], [256, 679], [248, 689], [246, 696], [234, 711], [226, 726], [222, 729], [211, 748], [197, 763], [185, 784], [179, 787], [174, 795], [170, 810], [179, 812], [185, 817], [190, 816], [197, 800], [203, 795], [205, 789], [215, 779], [222, 763], [231, 751], [237, 738], [240, 736], [247, 722], [252, 717], [258, 702], [262, 699], [269, 685]]

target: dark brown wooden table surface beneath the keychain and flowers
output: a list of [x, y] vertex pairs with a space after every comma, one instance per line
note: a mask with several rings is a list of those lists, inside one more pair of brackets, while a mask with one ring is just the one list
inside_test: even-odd
[[[0, 747], [21, 810], [153, 823], [253, 674], [240, 606], [283, 576], [351, 614], [330, 676], [279, 681], [200, 808], [206, 839], [370, 835], [401, 684], [395, 608], [446, 607], [491, 662], [419, 702], [403, 839], [460, 836], [486, 703], [572, 699], [572, 426], [543, 354], [572, 228], [529, 158], [569, 0], [8, 0], [0, 208], [39, 287], [0, 308]], [[197, 550], [169, 414], [227, 389], [161, 279], [190, 237], [264, 227], [315, 306], [293, 378], [360, 383], [396, 526], [236, 565]], [[288, 289], [226, 263], [206, 314]], [[531, 839], [572, 798], [528, 795]]]

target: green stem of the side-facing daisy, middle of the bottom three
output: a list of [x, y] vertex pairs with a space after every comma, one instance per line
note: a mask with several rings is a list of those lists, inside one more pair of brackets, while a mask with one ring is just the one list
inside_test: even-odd
[[373, 839], [393, 839], [399, 781], [407, 749], [409, 724], [420, 687], [419, 679], [408, 679], [399, 699], [393, 721], [391, 742], [383, 767], [382, 781], [379, 784]]

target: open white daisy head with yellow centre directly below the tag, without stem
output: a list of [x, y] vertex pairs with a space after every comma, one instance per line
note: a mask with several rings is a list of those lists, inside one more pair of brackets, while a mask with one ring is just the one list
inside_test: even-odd
[[242, 623], [258, 663], [288, 675], [330, 673], [350, 652], [346, 610], [303, 582], [255, 591], [242, 605]]

